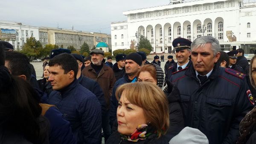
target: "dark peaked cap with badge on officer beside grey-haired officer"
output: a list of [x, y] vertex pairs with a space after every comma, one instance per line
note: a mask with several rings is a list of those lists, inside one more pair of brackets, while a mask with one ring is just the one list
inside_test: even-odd
[[174, 50], [190, 49], [191, 43], [192, 42], [186, 38], [178, 37], [172, 41], [172, 46]]

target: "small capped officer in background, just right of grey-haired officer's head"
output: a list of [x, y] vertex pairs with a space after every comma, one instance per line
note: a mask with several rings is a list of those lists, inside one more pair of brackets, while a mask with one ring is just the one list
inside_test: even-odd
[[238, 72], [241, 72], [241, 73], [244, 73], [244, 70], [243, 68], [241, 68], [241, 66], [237, 65], [236, 64], [236, 59], [237, 59], [237, 55], [238, 54], [238, 51], [230, 51], [230, 52], [227, 52], [227, 55], [229, 56], [230, 58], [230, 63], [229, 63], [229, 67], [230, 69], [234, 69]]

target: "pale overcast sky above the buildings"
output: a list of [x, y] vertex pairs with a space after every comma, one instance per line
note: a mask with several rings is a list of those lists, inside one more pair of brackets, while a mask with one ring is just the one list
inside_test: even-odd
[[169, 4], [169, 0], [2, 0], [0, 20], [87, 32], [111, 33], [122, 12]]

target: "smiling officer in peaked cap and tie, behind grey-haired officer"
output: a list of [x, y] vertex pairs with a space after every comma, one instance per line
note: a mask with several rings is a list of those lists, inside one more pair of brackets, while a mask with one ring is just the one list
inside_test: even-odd
[[179, 70], [186, 69], [192, 62], [189, 60], [189, 56], [191, 55], [190, 45], [191, 41], [182, 37], [175, 38], [172, 42], [172, 46], [175, 50], [175, 56], [177, 59], [177, 63], [173, 66], [167, 68], [166, 79], [170, 81], [172, 73], [177, 72]]

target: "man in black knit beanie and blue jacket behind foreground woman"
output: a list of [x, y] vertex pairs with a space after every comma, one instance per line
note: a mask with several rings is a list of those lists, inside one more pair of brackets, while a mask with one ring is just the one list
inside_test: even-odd
[[110, 98], [110, 126], [112, 127], [115, 120], [116, 120], [116, 109], [118, 107], [118, 101], [116, 99], [116, 89], [118, 86], [126, 83], [134, 83], [137, 81], [137, 72], [141, 68], [142, 65], [142, 58], [137, 53], [131, 53], [126, 56], [125, 59], [125, 72], [126, 74], [123, 78], [120, 78], [116, 81], [116, 84], [113, 88], [113, 94]]

